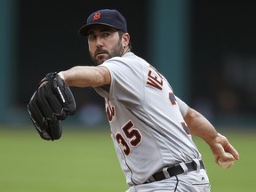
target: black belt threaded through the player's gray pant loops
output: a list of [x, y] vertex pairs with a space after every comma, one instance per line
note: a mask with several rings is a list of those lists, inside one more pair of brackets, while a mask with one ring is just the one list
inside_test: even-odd
[[183, 173], [199, 171], [200, 169], [204, 169], [203, 161], [194, 159], [188, 163], [180, 163], [172, 167], [165, 167], [162, 171], [154, 173], [145, 183], [165, 180]]

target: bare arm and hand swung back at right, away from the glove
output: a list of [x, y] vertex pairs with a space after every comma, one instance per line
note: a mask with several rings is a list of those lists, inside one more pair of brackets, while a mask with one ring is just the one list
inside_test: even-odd
[[[217, 164], [219, 158], [224, 161], [239, 159], [239, 154], [228, 142], [228, 139], [218, 133], [212, 124], [196, 110], [188, 108], [188, 113], [184, 119], [188, 125], [189, 131], [205, 140], [205, 142], [210, 146]], [[229, 152], [233, 156], [228, 156], [225, 152]]]

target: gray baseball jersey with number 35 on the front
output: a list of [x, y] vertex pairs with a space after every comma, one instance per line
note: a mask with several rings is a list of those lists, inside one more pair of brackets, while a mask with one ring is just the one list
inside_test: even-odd
[[95, 90], [105, 98], [128, 185], [144, 183], [165, 166], [201, 158], [183, 119], [188, 106], [156, 68], [132, 52], [101, 65], [108, 68], [111, 85]]

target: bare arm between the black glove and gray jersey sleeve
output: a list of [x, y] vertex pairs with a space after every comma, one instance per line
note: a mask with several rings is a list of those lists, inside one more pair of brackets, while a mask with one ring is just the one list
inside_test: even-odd
[[76, 66], [59, 73], [60, 77], [69, 86], [99, 87], [110, 84], [110, 75], [107, 68]]

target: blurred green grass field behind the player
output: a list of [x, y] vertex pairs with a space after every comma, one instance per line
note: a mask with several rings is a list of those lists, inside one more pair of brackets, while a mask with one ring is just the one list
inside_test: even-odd
[[[195, 138], [212, 192], [251, 192], [256, 183], [256, 133], [225, 132], [241, 159], [228, 170], [213, 163], [210, 149]], [[1, 192], [125, 191], [124, 175], [106, 131], [65, 127], [62, 138], [41, 140], [34, 127], [0, 127]]]

